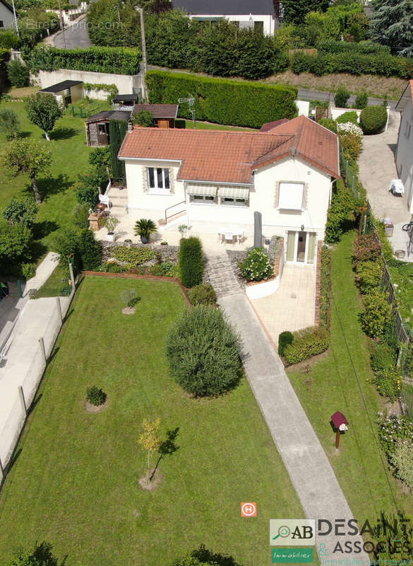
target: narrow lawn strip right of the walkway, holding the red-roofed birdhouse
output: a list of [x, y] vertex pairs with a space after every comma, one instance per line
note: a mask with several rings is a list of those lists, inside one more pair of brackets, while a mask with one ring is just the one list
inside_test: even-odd
[[[333, 252], [332, 328], [328, 357], [308, 372], [289, 372], [294, 389], [330, 459], [356, 518], [376, 521], [395, 507], [412, 511], [412, 495], [402, 494], [378, 449], [376, 417], [381, 410], [371, 378], [369, 339], [358, 320], [361, 301], [354, 284], [351, 256], [354, 233], [347, 233]], [[364, 405], [366, 403], [366, 406]], [[330, 415], [340, 410], [349, 420], [335, 452]]]

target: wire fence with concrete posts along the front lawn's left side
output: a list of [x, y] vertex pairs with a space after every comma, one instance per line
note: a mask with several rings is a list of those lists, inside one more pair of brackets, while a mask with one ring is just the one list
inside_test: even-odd
[[[20, 439], [20, 434], [25, 426], [26, 417], [30, 412], [32, 403], [35, 401], [37, 389], [42, 381], [44, 370], [47, 368], [49, 357], [52, 354], [56, 339], [76, 292], [76, 282], [72, 270], [71, 279], [72, 286], [69, 296], [56, 297], [54, 306], [52, 302], [53, 299], [50, 298], [47, 304], [49, 309], [47, 326], [42, 331], [42, 335], [38, 340], [33, 338], [31, 342], [25, 343], [25, 374], [18, 376], [19, 379], [16, 380], [18, 383], [13, 385], [11, 391], [6, 391], [6, 393], [8, 393], [8, 399], [3, 399], [5, 405], [8, 406], [8, 415], [0, 431], [0, 486], [13, 463], [13, 454]], [[24, 320], [24, 313], [25, 309], [23, 308], [23, 311], [20, 313], [22, 321]], [[13, 335], [11, 336], [11, 340], [13, 340]], [[10, 356], [13, 355], [13, 342], [8, 352]], [[16, 373], [16, 364], [14, 365], [14, 372]], [[10, 381], [12, 382], [12, 380]]]

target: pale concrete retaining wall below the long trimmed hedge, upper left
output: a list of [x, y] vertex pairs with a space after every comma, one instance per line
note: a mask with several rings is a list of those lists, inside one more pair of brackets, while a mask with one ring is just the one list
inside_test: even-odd
[[[109, 73], [94, 73], [92, 71], [75, 71], [73, 69], [58, 69], [57, 71], [39, 71], [31, 77], [32, 81], [46, 88], [62, 81], [83, 81], [94, 84], [116, 84], [120, 94], [133, 94], [141, 86], [140, 75], [117, 75]], [[92, 91], [93, 98], [106, 100], [107, 91]]]

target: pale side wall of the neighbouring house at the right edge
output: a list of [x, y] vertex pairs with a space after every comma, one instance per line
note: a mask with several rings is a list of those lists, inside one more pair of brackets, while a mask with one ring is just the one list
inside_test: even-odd
[[[410, 125], [410, 135], [408, 134]], [[413, 105], [412, 99], [407, 102], [400, 121], [399, 137], [397, 140], [397, 173], [405, 185], [409, 212], [413, 212]]]

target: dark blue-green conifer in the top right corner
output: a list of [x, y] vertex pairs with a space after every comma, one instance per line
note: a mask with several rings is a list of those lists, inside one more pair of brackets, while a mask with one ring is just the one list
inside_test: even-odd
[[388, 45], [400, 48], [400, 55], [413, 55], [413, 1], [376, 0], [371, 18], [373, 38]]

